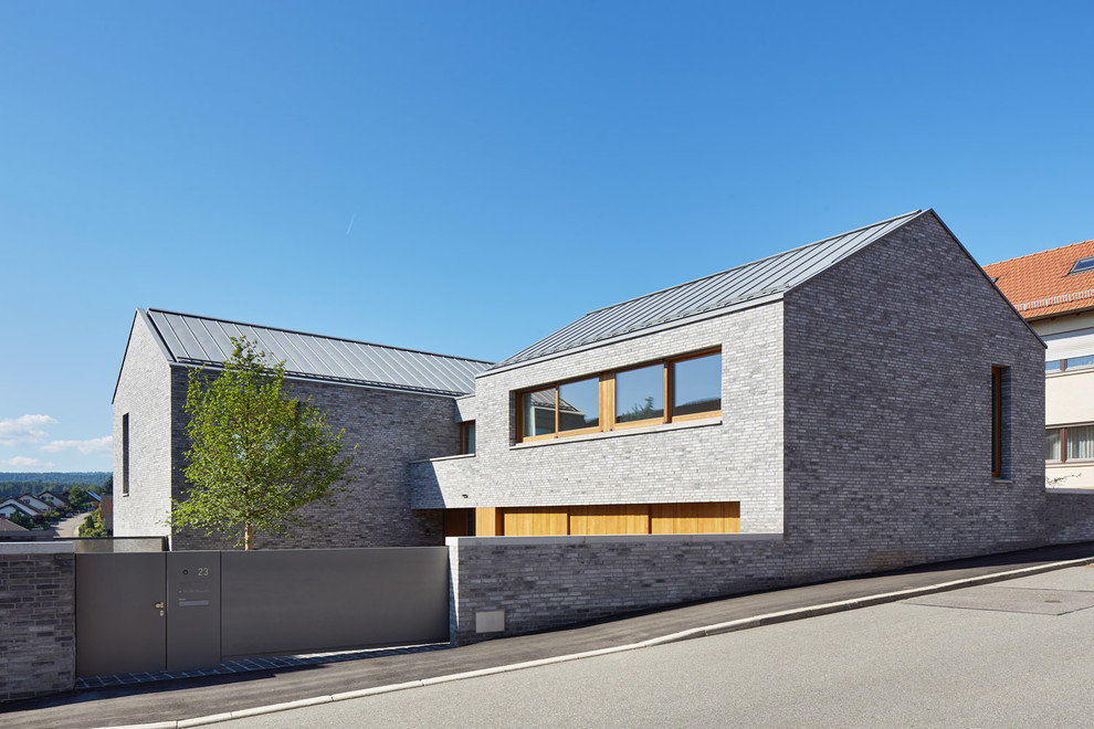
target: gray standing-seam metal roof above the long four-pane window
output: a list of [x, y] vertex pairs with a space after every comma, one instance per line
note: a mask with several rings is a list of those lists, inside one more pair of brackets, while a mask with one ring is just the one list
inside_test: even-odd
[[853, 253], [924, 214], [914, 212], [883, 220], [729, 271], [632, 298], [596, 311], [505, 359], [501, 369], [585, 345], [684, 319], [733, 310], [775, 299], [831, 268]]

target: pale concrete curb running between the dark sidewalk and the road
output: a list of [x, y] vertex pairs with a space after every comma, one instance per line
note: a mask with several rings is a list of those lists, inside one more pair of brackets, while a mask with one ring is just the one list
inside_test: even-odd
[[796, 608], [795, 610], [785, 610], [777, 613], [767, 613], [764, 615], [756, 615], [754, 617], [741, 617], [739, 620], [728, 621], [725, 623], [716, 623], [714, 625], [706, 625], [703, 627], [693, 627], [686, 631], [670, 633], [669, 635], [662, 635], [660, 637], [649, 638], [645, 641], [641, 641], [639, 643], [631, 643], [628, 645], [620, 645], [611, 648], [599, 648], [597, 651], [586, 651], [583, 653], [571, 653], [564, 656], [539, 658], [537, 661], [526, 661], [524, 663], [514, 663], [505, 666], [494, 666], [492, 668], [481, 668], [478, 670], [469, 670], [466, 673], [461, 673], [461, 674], [448, 674], [445, 676], [422, 678], [419, 680], [411, 680], [402, 684], [376, 686], [374, 688], [364, 688], [357, 691], [345, 691], [341, 694], [333, 694], [329, 696], [316, 696], [314, 698], [301, 699], [297, 701], [286, 701], [284, 704], [271, 704], [269, 706], [259, 706], [251, 709], [240, 709], [239, 711], [211, 714], [209, 716], [196, 717], [193, 719], [179, 719], [176, 721], [158, 721], [155, 723], [126, 725], [119, 728], [116, 727], [115, 729], [183, 729], [185, 727], [203, 727], [211, 723], [220, 723], [222, 721], [231, 721], [233, 719], [243, 719], [245, 717], [262, 716], [265, 714], [275, 714], [277, 711], [287, 711], [290, 709], [317, 706], [319, 704], [330, 704], [333, 701], [345, 701], [348, 699], [365, 698], [368, 696], [378, 696], [380, 694], [390, 694], [392, 691], [401, 691], [408, 688], [421, 688], [423, 686], [434, 686], [436, 684], [449, 684], [456, 680], [464, 680], [466, 678], [477, 678], [480, 676], [493, 676], [495, 674], [505, 674], [513, 670], [523, 670], [525, 668], [549, 666], [556, 663], [580, 661], [582, 658], [592, 658], [595, 656], [603, 656], [612, 653], [623, 653], [624, 651], [638, 651], [640, 648], [649, 648], [656, 645], [667, 645], [670, 643], [679, 643], [681, 641], [690, 641], [692, 638], [706, 637], [709, 635], [720, 635], [723, 633], [746, 631], [754, 627], [761, 627], [764, 625], [776, 625], [778, 623], [787, 623], [790, 621], [803, 620], [807, 617], [831, 615], [833, 613], [841, 613], [850, 610], [859, 610], [861, 608], [872, 608], [874, 605], [882, 605], [891, 602], [900, 602], [901, 600], [907, 600], [909, 598], [918, 598], [922, 595], [935, 594], [938, 592], [949, 592], [950, 590], [959, 590], [961, 588], [972, 588], [979, 584], [991, 584], [992, 582], [1003, 582], [1006, 580], [1013, 580], [1020, 577], [1030, 577], [1033, 574], [1040, 574], [1042, 572], [1052, 572], [1054, 570], [1066, 569], [1069, 567], [1082, 567], [1084, 564], [1094, 564], [1094, 557], [1066, 560], [1063, 562], [1050, 562], [1048, 564], [1038, 564], [1037, 567], [1023, 567], [1022, 569], [1018, 569], [1018, 570], [1009, 570], [1007, 572], [993, 572], [991, 574], [981, 574], [975, 578], [965, 578], [962, 580], [940, 582], [938, 584], [930, 584], [924, 588], [912, 588], [908, 590], [898, 590], [896, 592], [884, 592], [876, 595], [869, 595], [865, 598], [853, 598], [851, 600], [841, 600], [839, 602], [830, 602], [821, 605], [813, 605], [810, 608]]

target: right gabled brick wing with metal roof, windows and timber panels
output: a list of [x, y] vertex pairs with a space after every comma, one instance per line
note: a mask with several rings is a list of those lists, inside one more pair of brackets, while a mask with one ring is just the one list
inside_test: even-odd
[[781, 533], [814, 573], [1019, 547], [1043, 506], [1042, 351], [917, 211], [478, 373], [459, 401], [477, 452], [414, 464], [412, 506], [475, 509], [478, 536]]

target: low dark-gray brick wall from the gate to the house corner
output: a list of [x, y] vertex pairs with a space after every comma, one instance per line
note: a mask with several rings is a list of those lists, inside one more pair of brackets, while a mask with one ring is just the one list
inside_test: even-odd
[[446, 540], [457, 644], [786, 583], [782, 535]]

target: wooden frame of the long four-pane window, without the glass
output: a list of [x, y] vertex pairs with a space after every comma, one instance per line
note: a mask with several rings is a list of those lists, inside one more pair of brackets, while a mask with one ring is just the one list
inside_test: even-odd
[[[712, 420], [722, 416], [722, 409], [711, 410], [702, 413], [688, 413], [686, 415], [674, 415], [673, 406], [675, 403], [672, 402], [673, 393], [673, 378], [675, 377], [675, 364], [677, 362], [685, 362], [692, 359], [699, 359], [702, 357], [713, 357], [714, 355], [722, 355], [722, 348], [716, 349], [703, 349], [696, 352], [691, 352], [687, 355], [679, 355], [674, 357], [665, 357], [662, 359], [656, 359], [653, 361], [642, 362], [640, 364], [633, 364], [630, 367], [619, 368], [614, 370], [608, 370], [600, 372], [598, 374], [587, 374], [582, 377], [570, 378], [567, 380], [559, 380], [551, 384], [544, 384], [535, 388], [527, 388], [524, 390], [516, 391], [516, 411], [517, 411], [517, 426], [516, 426], [516, 442], [517, 443], [535, 443], [537, 441], [550, 441], [555, 439], [569, 437], [572, 435], [590, 435], [593, 433], [610, 433], [613, 431], [624, 431], [634, 427], [650, 427], [655, 425], [664, 425], [674, 422], [687, 422], [697, 420]], [[625, 423], [620, 423], [616, 420], [616, 376], [621, 372], [630, 372], [633, 370], [640, 370], [648, 367], [661, 367], [661, 401], [662, 401], [662, 414], [660, 418], [648, 418], [644, 420], [630, 421]], [[580, 427], [570, 431], [559, 430], [561, 425], [561, 411], [559, 408], [559, 401], [561, 399], [560, 390], [567, 384], [572, 384], [574, 382], [581, 382], [585, 380], [591, 380], [593, 378], [599, 378], [599, 423], [593, 427]], [[541, 435], [527, 435], [528, 423], [526, 422], [526, 408], [525, 398], [544, 390], [555, 391], [555, 430], [553, 433], [544, 433]], [[718, 402], [722, 402], [722, 382], [718, 381]]]

